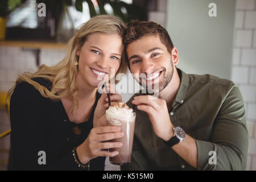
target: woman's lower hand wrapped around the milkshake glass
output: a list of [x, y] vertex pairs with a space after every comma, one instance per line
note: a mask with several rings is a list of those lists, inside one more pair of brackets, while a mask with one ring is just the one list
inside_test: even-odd
[[118, 126], [95, 127], [90, 130], [86, 140], [77, 147], [77, 155], [81, 163], [86, 164], [89, 160], [98, 156], [113, 157], [118, 155], [117, 151], [109, 152], [102, 149], [122, 147], [122, 142], [105, 142], [115, 138], [123, 137], [121, 128]]

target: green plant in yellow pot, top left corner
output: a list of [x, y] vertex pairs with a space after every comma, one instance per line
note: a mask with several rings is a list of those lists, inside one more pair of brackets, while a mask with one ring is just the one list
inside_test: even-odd
[[26, 0], [1, 0], [0, 1], [0, 40], [5, 40], [7, 16], [16, 7], [22, 5]]

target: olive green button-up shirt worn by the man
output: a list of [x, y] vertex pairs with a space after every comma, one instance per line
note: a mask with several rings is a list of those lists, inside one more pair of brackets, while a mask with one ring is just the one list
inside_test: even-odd
[[[196, 140], [197, 170], [246, 169], [248, 133], [238, 86], [212, 75], [177, 71], [181, 83], [170, 120]], [[133, 97], [127, 102], [130, 107]], [[138, 109], [131, 163], [121, 169], [196, 170], [155, 135], [147, 113]]]

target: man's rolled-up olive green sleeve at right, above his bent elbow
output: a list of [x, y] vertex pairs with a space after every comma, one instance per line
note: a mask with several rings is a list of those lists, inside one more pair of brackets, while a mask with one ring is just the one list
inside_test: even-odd
[[223, 97], [210, 141], [196, 140], [196, 144], [198, 170], [246, 169], [248, 132], [245, 106], [236, 85]]

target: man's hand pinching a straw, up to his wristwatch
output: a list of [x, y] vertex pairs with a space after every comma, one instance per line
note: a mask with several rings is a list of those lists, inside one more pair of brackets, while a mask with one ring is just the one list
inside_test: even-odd
[[169, 117], [166, 101], [148, 95], [134, 97], [132, 103], [148, 114], [155, 134], [159, 138], [167, 141], [174, 135], [174, 126]]

